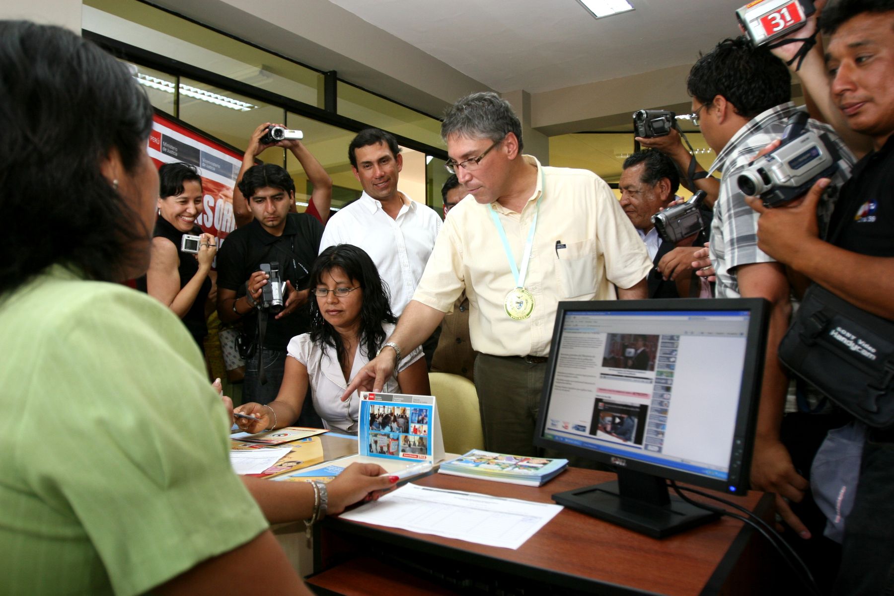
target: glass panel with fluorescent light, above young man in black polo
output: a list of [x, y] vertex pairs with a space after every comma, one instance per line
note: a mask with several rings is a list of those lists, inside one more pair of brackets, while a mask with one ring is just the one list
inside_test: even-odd
[[[212, 137], [244, 150], [251, 133], [264, 122], [283, 122], [283, 108], [216, 88], [198, 80], [181, 79], [180, 119]], [[248, 107], [246, 107], [246, 105]], [[271, 147], [257, 156], [283, 165], [283, 149]]]

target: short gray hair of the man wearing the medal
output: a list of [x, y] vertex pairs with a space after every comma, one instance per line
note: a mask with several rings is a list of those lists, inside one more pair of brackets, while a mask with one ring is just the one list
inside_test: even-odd
[[519, 117], [508, 101], [492, 91], [463, 97], [447, 108], [441, 123], [441, 138], [444, 140], [451, 135], [459, 135], [470, 139], [491, 139], [495, 143], [510, 132], [519, 139], [520, 152], [524, 146]]

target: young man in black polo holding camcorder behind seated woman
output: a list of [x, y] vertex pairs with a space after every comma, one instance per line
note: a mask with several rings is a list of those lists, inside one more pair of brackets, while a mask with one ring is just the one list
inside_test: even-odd
[[[243, 322], [249, 350], [253, 349], [246, 357], [243, 399], [266, 404], [276, 399], [283, 381], [289, 340], [310, 327], [309, 272], [323, 225], [311, 215], [289, 213], [295, 203], [295, 183], [278, 165], [249, 168], [239, 189], [254, 219], [232, 231], [217, 253], [217, 315], [224, 323]], [[279, 277], [285, 284], [282, 310], [266, 304], [264, 298], [271, 275], [260, 270], [261, 264], [272, 263], [279, 264]], [[316, 416], [312, 410], [310, 415]], [[299, 422], [312, 424], [313, 418]]]

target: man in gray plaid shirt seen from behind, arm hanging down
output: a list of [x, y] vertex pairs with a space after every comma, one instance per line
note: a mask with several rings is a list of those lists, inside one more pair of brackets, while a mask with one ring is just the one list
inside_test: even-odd
[[[777, 358], [777, 349], [789, 326], [789, 281], [784, 266], [757, 247], [757, 214], [746, 204], [746, 194], [738, 188], [739, 174], [758, 151], [780, 138], [789, 118], [799, 111], [789, 101], [791, 76], [785, 64], [765, 47], [755, 47], [745, 38], [725, 39], [692, 67], [687, 88], [704, 139], [717, 154], [709, 171], [722, 171], [711, 229], [716, 295], [718, 298], [765, 298], [772, 304], [752, 485], [755, 489], [775, 492], [780, 516], [801, 537], [808, 538], [806, 526], [789, 507], [789, 500], [803, 499], [808, 483], [797, 472], [789, 449], [780, 441], [789, 379]], [[830, 127], [814, 121], [807, 122], [806, 126], [807, 130], [828, 135], [837, 147], [841, 159], [833, 183], [839, 188], [850, 171], [852, 155]], [[819, 212], [824, 229], [831, 213], [831, 200], [824, 201]]]

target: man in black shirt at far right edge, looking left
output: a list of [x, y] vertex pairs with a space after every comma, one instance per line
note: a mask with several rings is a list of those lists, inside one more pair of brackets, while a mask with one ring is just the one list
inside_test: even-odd
[[[851, 130], [872, 139], [873, 151], [856, 164], [853, 178], [841, 189], [825, 239], [815, 208], [830, 187], [829, 180], [819, 180], [803, 201], [789, 206], [766, 209], [759, 199], [749, 199], [761, 214], [758, 247], [851, 306], [891, 321], [894, 0], [830, 3], [820, 26], [830, 36], [824, 62], [831, 80], [823, 85], [819, 71], [805, 76], [814, 77], [813, 84], [830, 92], [839, 116]], [[835, 593], [881, 594], [894, 586], [892, 444], [894, 432], [868, 428], [853, 508], [849, 514], [842, 512], [844, 541]]]

